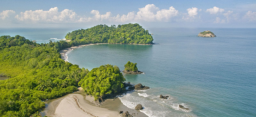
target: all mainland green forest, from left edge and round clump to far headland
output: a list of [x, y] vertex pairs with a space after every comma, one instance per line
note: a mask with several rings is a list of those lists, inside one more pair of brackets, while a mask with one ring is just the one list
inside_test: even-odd
[[[148, 30], [139, 24], [98, 25], [68, 33], [66, 38], [69, 41], [39, 44], [19, 35], [0, 37], [0, 74], [9, 77], [0, 80], [0, 116], [39, 117], [44, 100], [72, 93], [78, 85], [95, 97], [123, 88], [125, 79], [117, 66], [100, 66], [89, 72], [62, 60], [60, 50], [90, 43], [152, 44], [153, 41]], [[91, 80], [99, 72], [102, 75], [97, 74], [97, 79], [109, 83], [93, 86]]]

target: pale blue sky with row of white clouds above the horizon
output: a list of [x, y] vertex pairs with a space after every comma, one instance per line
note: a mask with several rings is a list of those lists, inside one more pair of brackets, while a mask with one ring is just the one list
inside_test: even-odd
[[0, 27], [256, 28], [256, 0], [0, 0]]

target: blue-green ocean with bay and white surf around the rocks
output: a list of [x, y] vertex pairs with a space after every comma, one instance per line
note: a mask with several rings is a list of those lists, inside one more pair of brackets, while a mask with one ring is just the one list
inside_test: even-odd
[[[126, 82], [150, 89], [118, 98], [129, 108], [141, 104], [141, 112], [149, 117], [256, 116], [256, 28], [146, 29], [154, 34], [154, 45], [90, 45], [70, 51], [68, 61], [89, 70], [111, 64], [120, 71], [128, 61], [137, 63], [145, 74], [125, 74]], [[0, 29], [0, 35], [48, 43], [65, 38], [72, 30], [8, 28]], [[205, 30], [217, 37], [196, 36]], [[170, 98], [160, 99], [160, 94]]]

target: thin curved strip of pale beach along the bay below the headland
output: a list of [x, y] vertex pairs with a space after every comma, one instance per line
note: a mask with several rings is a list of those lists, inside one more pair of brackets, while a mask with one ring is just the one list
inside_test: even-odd
[[[122, 43], [92, 43], [92, 44], [86, 44], [86, 45], [78, 45], [78, 46], [72, 46], [72, 47], [69, 47], [69, 48], [65, 48], [63, 50], [60, 50], [59, 53], [61, 55], [61, 59], [63, 59], [64, 61], [68, 61], [68, 53], [70, 51], [73, 51], [74, 49], [77, 49], [77, 48], [81, 48], [81, 47], [84, 47], [84, 46], [89, 46], [89, 45], [98, 45], [98, 44], [122, 44]], [[127, 45], [153, 45], [153, 44], [134, 44], [134, 43], [125, 43]]]

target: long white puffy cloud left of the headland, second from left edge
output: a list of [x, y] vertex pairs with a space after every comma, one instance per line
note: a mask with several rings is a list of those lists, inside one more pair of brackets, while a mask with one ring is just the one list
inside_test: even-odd
[[16, 15], [19, 21], [32, 21], [32, 22], [69, 22], [76, 21], [77, 15], [73, 10], [64, 9], [58, 12], [58, 7], [51, 8], [48, 11], [35, 10], [20, 12], [20, 15]]

